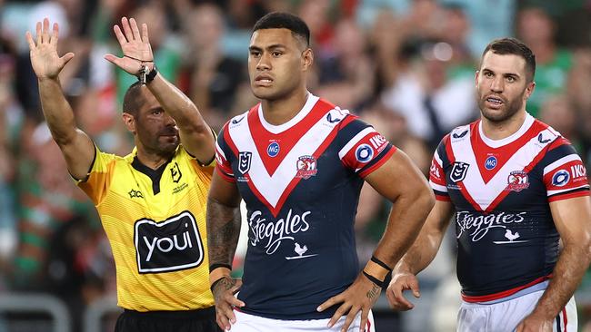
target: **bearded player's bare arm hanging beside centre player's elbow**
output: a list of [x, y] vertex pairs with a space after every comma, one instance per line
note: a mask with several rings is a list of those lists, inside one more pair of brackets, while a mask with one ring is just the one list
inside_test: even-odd
[[386, 298], [395, 310], [414, 308], [413, 304], [404, 297], [403, 291], [410, 289], [416, 298], [420, 297], [416, 274], [435, 259], [453, 211], [451, 202], [436, 200], [415, 242], [393, 269], [392, 280], [386, 289]]

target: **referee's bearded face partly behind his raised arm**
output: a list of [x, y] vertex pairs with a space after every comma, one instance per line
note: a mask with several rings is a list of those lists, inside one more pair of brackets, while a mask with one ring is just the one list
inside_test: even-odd
[[142, 94], [145, 102], [134, 115], [136, 144], [157, 155], [174, 153], [180, 142], [175, 120], [146, 87], [142, 87]]

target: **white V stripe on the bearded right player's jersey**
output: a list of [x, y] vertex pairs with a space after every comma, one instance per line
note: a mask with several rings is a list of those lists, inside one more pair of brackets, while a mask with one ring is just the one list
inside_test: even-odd
[[466, 172], [466, 178], [462, 184], [466, 188], [467, 193], [472, 197], [475, 203], [482, 210], [486, 210], [490, 204], [506, 189], [507, 181], [511, 171], [523, 171], [524, 168], [532, 162], [536, 156], [546, 148], [548, 144], [554, 142], [558, 137], [556, 132], [551, 128], [546, 128], [540, 132], [542, 137], [547, 138], [540, 142], [538, 135], [535, 135], [531, 140], [520, 147], [508, 161], [496, 172], [495, 176], [487, 183], [482, 179], [482, 175], [478, 169], [476, 156], [470, 140], [471, 133], [468, 132], [462, 137], [454, 138], [454, 133], [461, 133], [470, 131], [470, 126], [462, 126], [456, 128], [450, 134], [450, 144], [456, 161], [463, 161], [470, 164], [470, 168]]

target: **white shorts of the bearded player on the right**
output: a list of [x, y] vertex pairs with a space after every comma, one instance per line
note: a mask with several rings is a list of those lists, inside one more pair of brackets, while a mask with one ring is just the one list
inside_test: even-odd
[[[517, 325], [536, 308], [544, 294], [538, 290], [524, 296], [494, 304], [462, 301], [457, 314], [458, 332], [512, 332]], [[575, 298], [570, 298], [553, 324], [555, 332], [576, 332], [577, 317]]]

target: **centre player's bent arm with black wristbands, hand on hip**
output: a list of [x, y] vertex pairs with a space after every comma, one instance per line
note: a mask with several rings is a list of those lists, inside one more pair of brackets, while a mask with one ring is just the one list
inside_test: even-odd
[[353, 285], [318, 308], [322, 311], [342, 303], [330, 319], [329, 326], [332, 327], [341, 316], [346, 315], [345, 330], [360, 310], [361, 327], [365, 327], [369, 310], [376, 303], [382, 282], [389, 272], [383, 265], [392, 267], [402, 257], [416, 239], [434, 204], [434, 195], [425, 177], [403, 151], [396, 151], [379, 169], [369, 174], [366, 181], [393, 205], [386, 231], [374, 253], [379, 262], [370, 261]]

